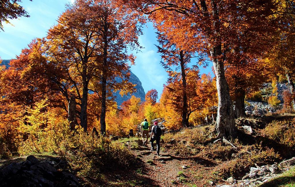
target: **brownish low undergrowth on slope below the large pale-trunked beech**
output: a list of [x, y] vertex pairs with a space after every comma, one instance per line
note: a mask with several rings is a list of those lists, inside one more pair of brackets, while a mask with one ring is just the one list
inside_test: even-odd
[[[202, 158], [216, 163], [216, 167], [211, 166], [214, 167], [212, 174], [219, 179], [230, 176], [238, 178], [245, 175], [250, 167], [273, 164], [288, 158], [282, 149], [286, 153], [295, 149], [294, 124], [294, 119], [273, 121], [265, 129], [257, 129], [255, 136], [247, 136], [244, 142], [238, 139], [232, 141], [237, 149], [222, 141], [214, 143], [214, 126], [165, 134], [162, 138], [163, 147], [179, 156]], [[252, 128], [255, 130], [255, 126]]]

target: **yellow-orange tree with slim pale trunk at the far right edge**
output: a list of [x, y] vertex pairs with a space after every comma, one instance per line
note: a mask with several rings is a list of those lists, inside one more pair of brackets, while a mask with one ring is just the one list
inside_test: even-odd
[[[291, 94], [294, 94], [295, 78], [295, 5], [293, 1], [278, 1], [279, 9], [276, 16], [281, 20], [280, 29], [271, 38], [273, 46], [264, 58], [264, 62], [273, 71], [273, 78], [285, 75]], [[295, 100], [292, 101], [295, 110]]]

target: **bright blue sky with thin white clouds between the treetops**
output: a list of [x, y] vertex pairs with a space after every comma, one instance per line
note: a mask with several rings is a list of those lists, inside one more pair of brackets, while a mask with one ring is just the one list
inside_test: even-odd
[[[11, 21], [13, 25], [5, 24], [4, 32], [0, 32], [0, 57], [4, 60], [15, 58], [21, 50], [36, 37], [45, 37], [47, 30], [56, 24], [58, 16], [64, 12], [65, 4], [73, 0], [24, 0], [21, 3], [27, 10], [30, 17], [21, 17]], [[145, 92], [156, 89], [160, 94], [163, 90], [168, 76], [164, 68], [160, 65], [160, 54], [157, 54], [155, 44], [157, 44], [155, 30], [151, 23], [144, 27], [144, 34], [139, 37], [140, 44], [144, 47], [137, 56], [135, 65], [131, 66], [131, 71], [140, 79]], [[202, 73], [211, 72], [212, 64]]]

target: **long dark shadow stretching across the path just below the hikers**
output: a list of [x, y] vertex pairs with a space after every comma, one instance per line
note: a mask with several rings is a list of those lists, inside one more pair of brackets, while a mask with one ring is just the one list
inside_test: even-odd
[[216, 166], [217, 163], [215, 163], [212, 160], [207, 160], [204, 158], [200, 158], [200, 157], [177, 157], [177, 156], [173, 156], [173, 155], [162, 155], [160, 158], [156, 158], [155, 160], [163, 160], [163, 161], [170, 161], [170, 160], [194, 160], [196, 163], [204, 165], [206, 167], [212, 167], [212, 166]]

